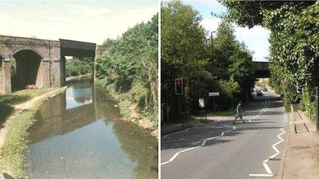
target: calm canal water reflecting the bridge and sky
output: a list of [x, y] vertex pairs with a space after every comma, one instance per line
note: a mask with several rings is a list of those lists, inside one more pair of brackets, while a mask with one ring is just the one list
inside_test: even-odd
[[157, 141], [115, 106], [89, 84], [45, 101], [29, 129], [29, 178], [157, 178]]

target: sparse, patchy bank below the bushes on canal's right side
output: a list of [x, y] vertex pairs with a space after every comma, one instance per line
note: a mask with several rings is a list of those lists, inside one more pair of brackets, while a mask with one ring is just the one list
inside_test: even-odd
[[144, 111], [137, 104], [132, 102], [130, 93], [116, 93], [112, 86], [105, 86], [103, 80], [97, 80], [96, 84], [102, 86], [110, 93], [117, 101], [118, 108], [123, 120], [136, 123], [140, 127], [151, 132], [151, 135], [157, 138], [157, 109]]

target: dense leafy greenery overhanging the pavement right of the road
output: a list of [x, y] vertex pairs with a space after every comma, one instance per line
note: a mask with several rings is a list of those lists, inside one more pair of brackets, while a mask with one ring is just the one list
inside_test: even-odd
[[221, 1], [225, 16], [244, 27], [270, 29], [270, 85], [283, 96], [285, 107], [298, 105], [315, 117], [319, 84], [318, 1]]

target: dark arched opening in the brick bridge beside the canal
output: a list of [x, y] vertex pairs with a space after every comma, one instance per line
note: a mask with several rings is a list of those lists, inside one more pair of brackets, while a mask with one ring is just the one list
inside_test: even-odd
[[10, 74], [12, 91], [24, 89], [29, 84], [41, 84], [41, 60], [43, 57], [34, 49], [20, 49], [12, 53]]

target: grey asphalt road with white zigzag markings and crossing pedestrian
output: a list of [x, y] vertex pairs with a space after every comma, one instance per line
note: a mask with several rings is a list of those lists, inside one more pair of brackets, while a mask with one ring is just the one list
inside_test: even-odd
[[272, 92], [244, 109], [243, 119], [214, 121], [162, 136], [162, 178], [274, 178], [287, 136], [283, 102]]

